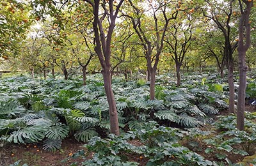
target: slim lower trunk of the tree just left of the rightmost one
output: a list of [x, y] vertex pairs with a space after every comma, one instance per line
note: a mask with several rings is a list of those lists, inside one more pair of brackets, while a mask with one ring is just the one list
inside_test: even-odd
[[228, 112], [235, 113], [235, 88], [234, 88], [234, 62], [230, 60], [228, 64], [228, 87], [229, 87], [229, 103]]

